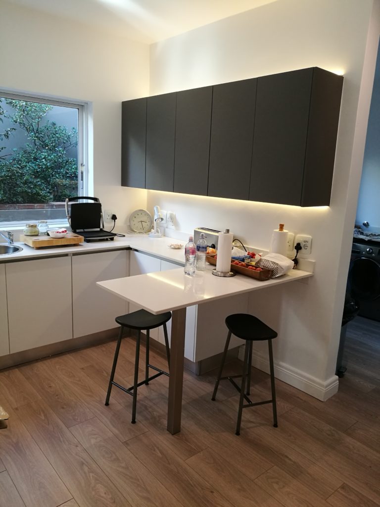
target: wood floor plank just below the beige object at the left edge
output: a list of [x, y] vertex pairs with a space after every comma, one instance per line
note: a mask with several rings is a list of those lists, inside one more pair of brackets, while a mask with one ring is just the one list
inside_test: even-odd
[[0, 433], [0, 455], [26, 507], [57, 507], [72, 498], [30, 428], [13, 409], [9, 415], [8, 427]]

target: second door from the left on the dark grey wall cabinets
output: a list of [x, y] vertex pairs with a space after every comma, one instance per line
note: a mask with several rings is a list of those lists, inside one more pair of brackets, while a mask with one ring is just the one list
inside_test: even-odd
[[176, 93], [147, 98], [145, 188], [173, 192]]

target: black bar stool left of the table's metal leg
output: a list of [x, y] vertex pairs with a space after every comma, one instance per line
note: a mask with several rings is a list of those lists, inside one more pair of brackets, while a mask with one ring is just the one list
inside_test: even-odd
[[[111, 370], [111, 376], [109, 377], [108, 391], [105, 399], [105, 405], [109, 405], [109, 397], [111, 395], [112, 385], [119, 387], [122, 391], [127, 394], [131, 394], [133, 396], [132, 402], [132, 424], [136, 422], [136, 402], [137, 402], [137, 388], [140, 385], [148, 384], [150, 380], [153, 380], [160, 375], [167, 375], [169, 377], [169, 373], [156, 368], [149, 364], [149, 330], [159, 328], [160, 325], [164, 328], [165, 335], [165, 346], [166, 346], [166, 354], [168, 357], [168, 366], [170, 368], [170, 349], [169, 349], [169, 340], [168, 340], [168, 331], [166, 328], [166, 322], [170, 320], [172, 317], [171, 312], [161, 313], [160, 315], [154, 315], [153, 313], [147, 312], [146, 310], [137, 310], [133, 313], [127, 313], [126, 315], [121, 315], [120, 317], [116, 317], [116, 321], [120, 324], [120, 332], [119, 339], [116, 345], [115, 357], [113, 358], [113, 365]], [[135, 358], [135, 375], [133, 385], [131, 387], [123, 387], [117, 382], [113, 381], [113, 377], [115, 377], [116, 365], [118, 363], [119, 350], [120, 345], [122, 343], [123, 331], [124, 328], [136, 329], [137, 330], [137, 341], [136, 341], [136, 358]], [[139, 355], [140, 355], [140, 334], [141, 331], [146, 331], [146, 351], [145, 351], [145, 380], [138, 382], [138, 363], [139, 363]], [[158, 373], [149, 377], [149, 368], [156, 370]]]

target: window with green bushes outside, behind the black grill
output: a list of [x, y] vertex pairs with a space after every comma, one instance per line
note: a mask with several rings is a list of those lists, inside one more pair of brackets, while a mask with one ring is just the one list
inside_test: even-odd
[[0, 91], [0, 226], [65, 220], [83, 195], [84, 106]]

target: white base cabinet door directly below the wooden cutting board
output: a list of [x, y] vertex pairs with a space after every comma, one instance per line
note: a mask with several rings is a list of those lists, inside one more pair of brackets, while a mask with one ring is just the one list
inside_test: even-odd
[[72, 338], [71, 258], [6, 264], [10, 353]]

